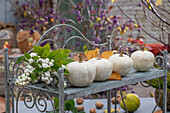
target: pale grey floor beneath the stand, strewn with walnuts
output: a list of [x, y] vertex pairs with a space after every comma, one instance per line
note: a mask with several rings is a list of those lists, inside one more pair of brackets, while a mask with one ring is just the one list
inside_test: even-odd
[[[139, 109], [137, 111], [135, 111], [134, 113], [152, 113], [152, 110], [155, 106], [155, 100], [154, 98], [140, 98], [141, 100], [141, 105], [139, 107]], [[96, 109], [97, 110], [97, 113], [103, 113], [103, 110], [105, 110], [107, 108], [107, 100], [106, 99], [85, 99], [84, 103], [82, 104], [85, 109], [84, 111], [86, 113], [89, 113], [89, 109], [95, 107], [95, 102], [96, 101], [100, 101], [102, 103], [104, 103], [104, 107], [103, 109]], [[51, 107], [51, 104], [50, 102], [48, 102], [48, 107], [47, 109], [50, 110], [52, 107]], [[78, 106], [76, 104], [76, 106]], [[119, 108], [120, 106], [117, 105], [117, 108]], [[41, 107], [40, 107], [41, 108]], [[112, 104], [112, 108], [114, 108], [114, 104]], [[156, 110], [159, 110], [160, 108], [157, 107]], [[26, 108], [26, 106], [24, 105], [24, 102], [23, 101], [19, 101], [19, 113], [40, 113], [36, 108], [35, 106], [32, 108], [32, 109], [28, 109]], [[125, 113], [125, 111], [123, 109], [120, 109], [119, 113]]]

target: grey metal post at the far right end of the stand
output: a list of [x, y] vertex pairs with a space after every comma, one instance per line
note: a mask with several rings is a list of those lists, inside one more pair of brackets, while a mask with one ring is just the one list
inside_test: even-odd
[[164, 66], [165, 77], [163, 77], [163, 113], [167, 110], [167, 51], [164, 51]]

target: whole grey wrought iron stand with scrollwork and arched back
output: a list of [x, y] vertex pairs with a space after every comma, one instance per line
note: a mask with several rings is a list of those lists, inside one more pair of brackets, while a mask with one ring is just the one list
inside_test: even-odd
[[[61, 44], [59, 42], [56, 42], [51, 39], [44, 39], [45, 35], [52, 30], [58, 30], [59, 33], [61, 30], [65, 29], [66, 27], [70, 27], [76, 32], [79, 33], [78, 36], [71, 36], [68, 39], [65, 38], [64, 43]], [[66, 34], [67, 35], [67, 34]], [[65, 36], [66, 36], [65, 35]], [[59, 38], [59, 36], [58, 36]], [[105, 47], [107, 50], [111, 50], [111, 39], [110, 37], [107, 37], [107, 42], [103, 44], [93, 44], [90, 42], [77, 28], [67, 25], [67, 24], [59, 24], [55, 25], [54, 27], [50, 28], [47, 32], [45, 32], [37, 45], [40, 45], [41, 43], [45, 41], [52, 41], [59, 48], [65, 48], [68, 41], [71, 39], [81, 39], [85, 41], [86, 44], [91, 44], [97, 47]], [[128, 45], [126, 45], [128, 46]], [[88, 47], [88, 46], [87, 46]], [[32, 50], [30, 50], [28, 53], [31, 53]], [[44, 112], [47, 110], [47, 99], [50, 100], [52, 108], [54, 113], [56, 113], [53, 100], [51, 97], [59, 97], [59, 113], [64, 113], [64, 102], [65, 100], [74, 99], [77, 97], [83, 97], [89, 94], [98, 93], [104, 90], [107, 90], [107, 108], [108, 113], [111, 113], [111, 89], [115, 89], [115, 94], [117, 93], [116, 88], [122, 87], [125, 85], [130, 84], [136, 84], [138, 82], [143, 82], [155, 78], [162, 77], [163, 79], [163, 113], [166, 113], [166, 104], [167, 104], [167, 51], [164, 51], [164, 56], [161, 57], [163, 60], [163, 68], [164, 70], [159, 69], [151, 69], [148, 72], [136, 72], [135, 70], [131, 70], [131, 72], [124, 78], [122, 78], [122, 81], [105, 81], [105, 82], [93, 82], [89, 87], [86, 88], [75, 88], [75, 87], [68, 87], [64, 89], [64, 70], [60, 68], [58, 70], [58, 74], [56, 75], [59, 79], [59, 88], [48, 86], [44, 83], [38, 83], [33, 85], [27, 85], [26, 87], [23, 87], [19, 89], [17, 98], [16, 98], [16, 107], [14, 108], [14, 88], [15, 86], [15, 79], [18, 75], [21, 74], [21, 72], [24, 72], [23, 68], [20, 64], [16, 64], [16, 60], [18, 57], [9, 57], [8, 49], [5, 48], [4, 51], [4, 67], [5, 67], [5, 100], [6, 100], [6, 112], [10, 113], [10, 97], [12, 99], [12, 113], [18, 111], [18, 101], [19, 97], [21, 96], [21, 93], [26, 90], [23, 94], [24, 98], [24, 104], [27, 108], [31, 109], [34, 106], [40, 111]], [[142, 84], [142, 83], [141, 83]], [[160, 88], [159, 88], [160, 90]], [[120, 90], [121, 91], [121, 90]], [[122, 95], [122, 93], [121, 93]], [[116, 100], [116, 96], [115, 96]], [[44, 105], [40, 103], [40, 101], [44, 102]], [[124, 102], [124, 100], [123, 100]], [[28, 105], [27, 103], [32, 103], [32, 105]], [[44, 107], [43, 109], [39, 108], [39, 105]], [[116, 108], [116, 105], [115, 105]], [[126, 106], [125, 106], [126, 108]], [[153, 110], [154, 111], [154, 110]], [[128, 113], [128, 111], [126, 110]], [[115, 110], [116, 113], [116, 110]]]

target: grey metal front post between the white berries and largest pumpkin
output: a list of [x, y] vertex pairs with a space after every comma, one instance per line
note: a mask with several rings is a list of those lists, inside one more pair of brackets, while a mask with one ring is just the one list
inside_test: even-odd
[[60, 68], [59, 73], [59, 113], [64, 113], [64, 69]]

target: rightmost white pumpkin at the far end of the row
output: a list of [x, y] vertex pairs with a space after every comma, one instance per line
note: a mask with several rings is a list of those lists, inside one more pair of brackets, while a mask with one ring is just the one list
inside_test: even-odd
[[150, 51], [135, 51], [131, 58], [136, 71], [148, 71], [154, 64], [154, 55]]

